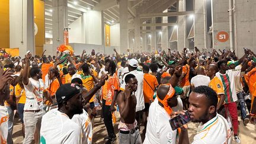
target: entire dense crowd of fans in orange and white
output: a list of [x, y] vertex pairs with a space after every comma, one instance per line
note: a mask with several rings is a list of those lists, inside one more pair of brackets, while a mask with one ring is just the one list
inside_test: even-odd
[[[107, 129], [105, 143], [117, 137], [119, 143], [241, 143], [238, 116], [245, 126], [255, 124], [256, 55], [249, 49], [240, 58], [231, 50], [197, 47], [127, 54], [114, 49], [113, 55], [74, 55], [71, 47], [55, 56], [45, 52], [1, 56], [1, 143], [14, 143], [14, 116], [25, 144], [92, 143], [96, 116]], [[193, 142], [189, 125], [173, 130], [170, 124], [187, 111], [191, 122], [200, 123]]]

